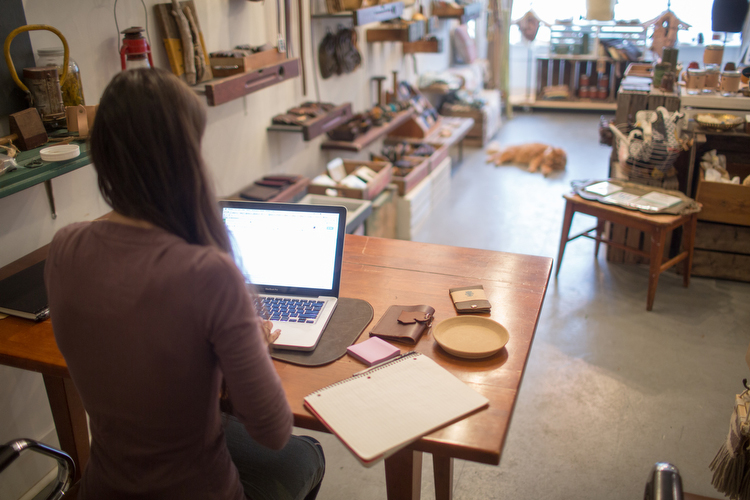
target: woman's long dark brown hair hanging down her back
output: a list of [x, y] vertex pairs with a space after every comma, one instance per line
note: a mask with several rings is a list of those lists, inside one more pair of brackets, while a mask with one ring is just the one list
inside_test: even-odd
[[204, 105], [161, 69], [118, 73], [104, 90], [90, 148], [104, 200], [189, 243], [231, 253], [206, 167]]

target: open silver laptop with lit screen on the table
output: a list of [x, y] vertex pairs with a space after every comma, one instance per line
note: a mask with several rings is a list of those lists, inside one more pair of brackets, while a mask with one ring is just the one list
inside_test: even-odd
[[278, 349], [312, 351], [339, 296], [346, 208], [220, 201], [237, 266], [258, 293]]

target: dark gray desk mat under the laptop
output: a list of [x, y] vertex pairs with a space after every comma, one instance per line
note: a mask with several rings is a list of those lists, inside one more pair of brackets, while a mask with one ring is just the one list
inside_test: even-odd
[[271, 357], [305, 366], [319, 366], [336, 361], [346, 354], [346, 348], [352, 345], [370, 324], [372, 315], [373, 310], [369, 302], [339, 297], [336, 310], [314, 351], [273, 350]]

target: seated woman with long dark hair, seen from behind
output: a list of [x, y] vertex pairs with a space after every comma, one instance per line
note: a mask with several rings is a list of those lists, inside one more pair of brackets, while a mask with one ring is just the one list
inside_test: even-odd
[[320, 444], [291, 435], [271, 325], [231, 257], [205, 126], [171, 73], [118, 74], [90, 140], [113, 213], [50, 247], [55, 338], [90, 418], [83, 499], [315, 498], [323, 478]]

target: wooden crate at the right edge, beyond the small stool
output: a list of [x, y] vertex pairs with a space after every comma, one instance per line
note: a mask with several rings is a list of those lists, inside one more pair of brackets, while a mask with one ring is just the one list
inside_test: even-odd
[[[727, 170], [742, 181], [750, 175], [750, 164], [730, 163]], [[699, 220], [750, 226], [750, 186], [708, 182], [701, 171], [695, 199], [703, 205]]]

